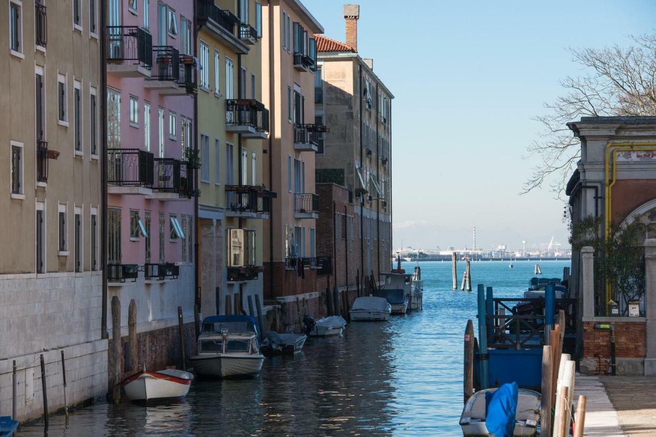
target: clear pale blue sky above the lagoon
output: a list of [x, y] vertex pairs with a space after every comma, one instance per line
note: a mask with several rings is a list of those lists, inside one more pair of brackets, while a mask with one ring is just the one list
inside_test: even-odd
[[[302, 0], [344, 41], [342, 2]], [[568, 47], [631, 44], [653, 1], [360, 0], [358, 52], [390, 88], [394, 247], [567, 247], [565, 202], [520, 195], [538, 159], [532, 117], [584, 70]], [[563, 195], [564, 197], [564, 195]]]

